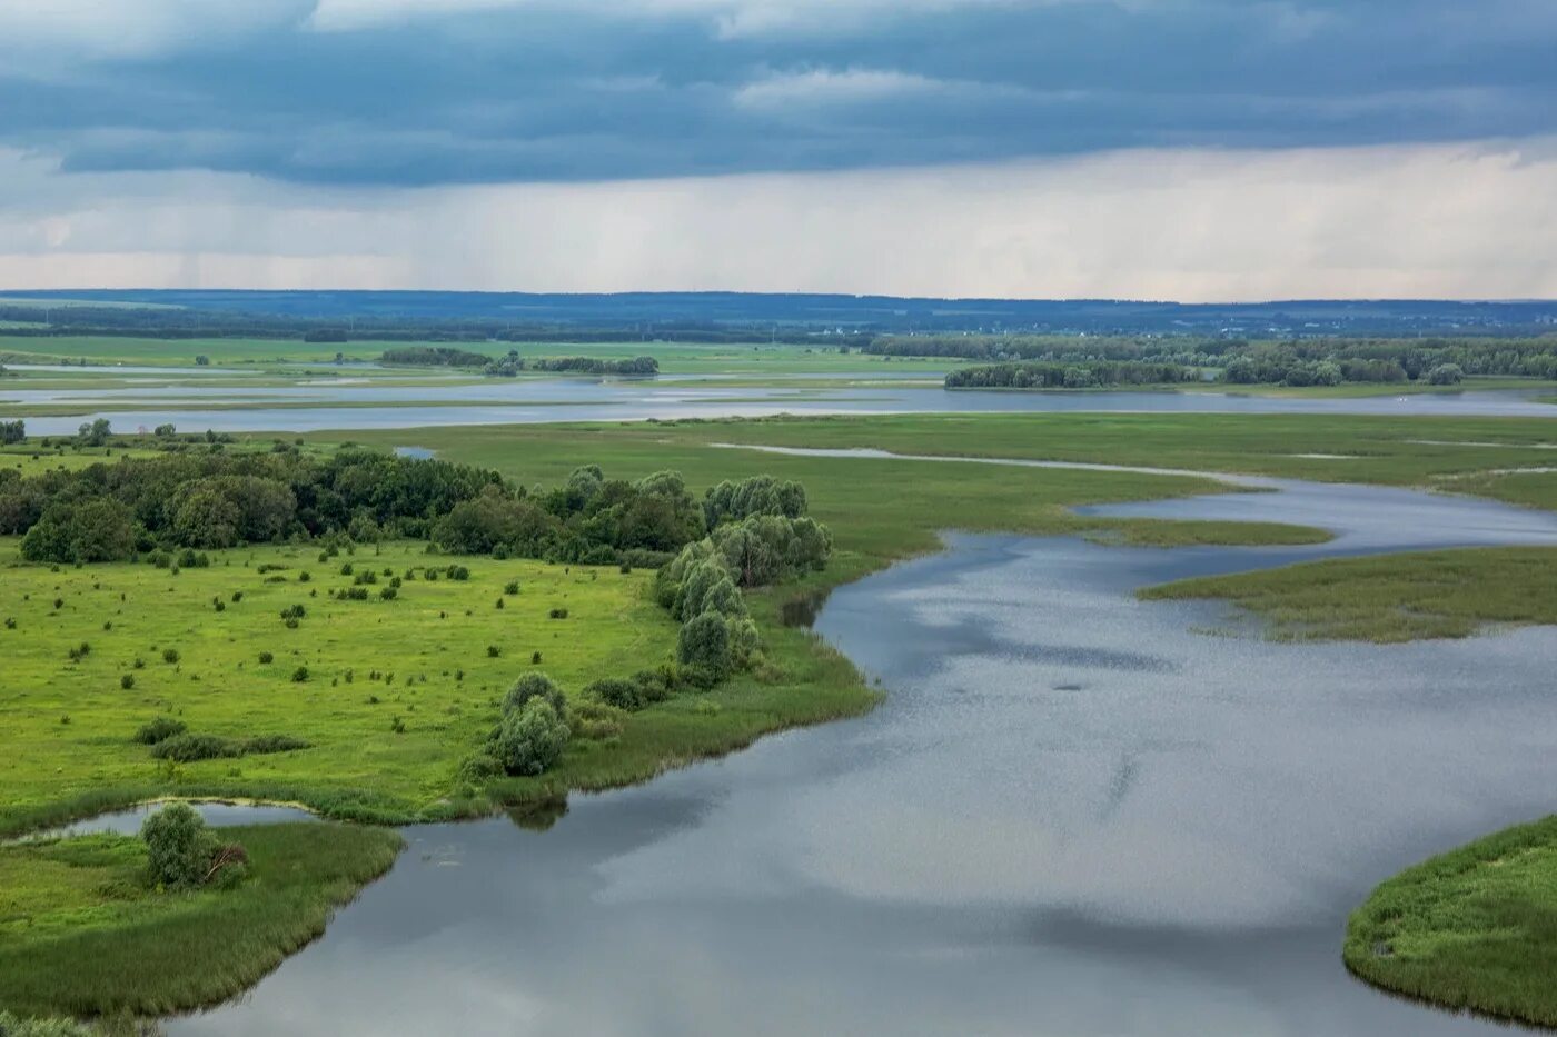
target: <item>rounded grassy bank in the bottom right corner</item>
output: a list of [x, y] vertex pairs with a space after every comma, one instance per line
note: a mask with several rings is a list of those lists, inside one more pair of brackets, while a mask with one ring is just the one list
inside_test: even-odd
[[1351, 914], [1342, 956], [1397, 993], [1557, 1026], [1557, 816], [1387, 880]]

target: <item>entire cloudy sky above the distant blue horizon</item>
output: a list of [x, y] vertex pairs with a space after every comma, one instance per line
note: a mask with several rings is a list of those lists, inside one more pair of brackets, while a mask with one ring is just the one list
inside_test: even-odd
[[0, 0], [0, 290], [1557, 297], [1552, 0]]

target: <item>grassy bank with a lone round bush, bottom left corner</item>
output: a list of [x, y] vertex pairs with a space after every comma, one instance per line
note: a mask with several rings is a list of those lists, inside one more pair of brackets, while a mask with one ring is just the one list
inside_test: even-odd
[[324, 933], [403, 841], [338, 824], [223, 828], [249, 852], [235, 889], [160, 892], [145, 844], [93, 835], [0, 845], [0, 1007], [163, 1015], [226, 1000]]

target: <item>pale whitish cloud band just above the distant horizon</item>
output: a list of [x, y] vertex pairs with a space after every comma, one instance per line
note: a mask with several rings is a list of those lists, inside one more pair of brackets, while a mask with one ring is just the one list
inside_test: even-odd
[[0, 290], [1557, 297], [1557, 146], [321, 190], [0, 154]]

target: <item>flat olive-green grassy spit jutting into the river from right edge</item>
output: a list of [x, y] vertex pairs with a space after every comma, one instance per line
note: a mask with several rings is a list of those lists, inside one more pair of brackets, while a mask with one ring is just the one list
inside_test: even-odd
[[1470, 548], [1327, 559], [1185, 579], [1144, 599], [1219, 598], [1277, 640], [1409, 642], [1488, 624], [1557, 623], [1557, 548]]

